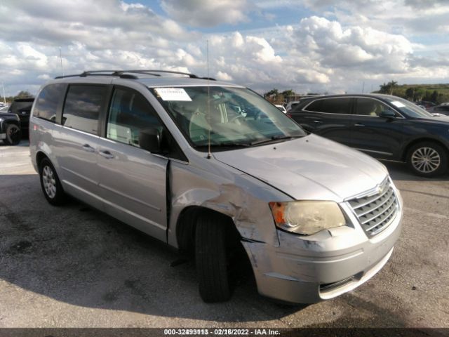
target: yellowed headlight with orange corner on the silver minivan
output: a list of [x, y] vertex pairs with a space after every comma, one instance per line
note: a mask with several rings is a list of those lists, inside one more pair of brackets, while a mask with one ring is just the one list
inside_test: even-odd
[[270, 202], [276, 226], [296, 234], [311, 235], [327, 228], [346, 225], [334, 201]]

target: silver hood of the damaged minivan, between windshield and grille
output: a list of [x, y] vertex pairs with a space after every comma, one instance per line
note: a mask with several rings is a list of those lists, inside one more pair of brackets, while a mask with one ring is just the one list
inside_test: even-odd
[[315, 135], [213, 156], [293, 199], [343, 201], [372, 189], [388, 175], [379, 161]]

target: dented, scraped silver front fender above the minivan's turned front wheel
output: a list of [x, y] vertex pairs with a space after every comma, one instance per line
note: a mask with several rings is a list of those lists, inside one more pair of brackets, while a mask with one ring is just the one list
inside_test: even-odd
[[174, 161], [170, 165], [168, 244], [178, 248], [175, 233], [182, 211], [201, 206], [232, 218], [243, 239], [279, 246], [268, 202], [290, 197], [220, 161], [201, 161], [201, 165]]

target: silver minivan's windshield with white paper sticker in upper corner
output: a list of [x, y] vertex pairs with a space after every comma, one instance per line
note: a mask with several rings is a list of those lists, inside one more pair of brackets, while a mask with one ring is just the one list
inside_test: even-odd
[[305, 136], [295, 121], [246, 88], [152, 88], [154, 96], [198, 150], [262, 145]]

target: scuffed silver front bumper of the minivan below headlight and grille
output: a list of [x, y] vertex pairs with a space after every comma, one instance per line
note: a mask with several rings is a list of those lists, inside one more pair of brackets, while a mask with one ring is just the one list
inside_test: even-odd
[[279, 247], [243, 242], [258, 291], [290, 303], [316, 303], [351, 291], [387, 263], [401, 232], [402, 203], [390, 225], [368, 239], [359, 227], [323, 230], [311, 237], [279, 231]]

